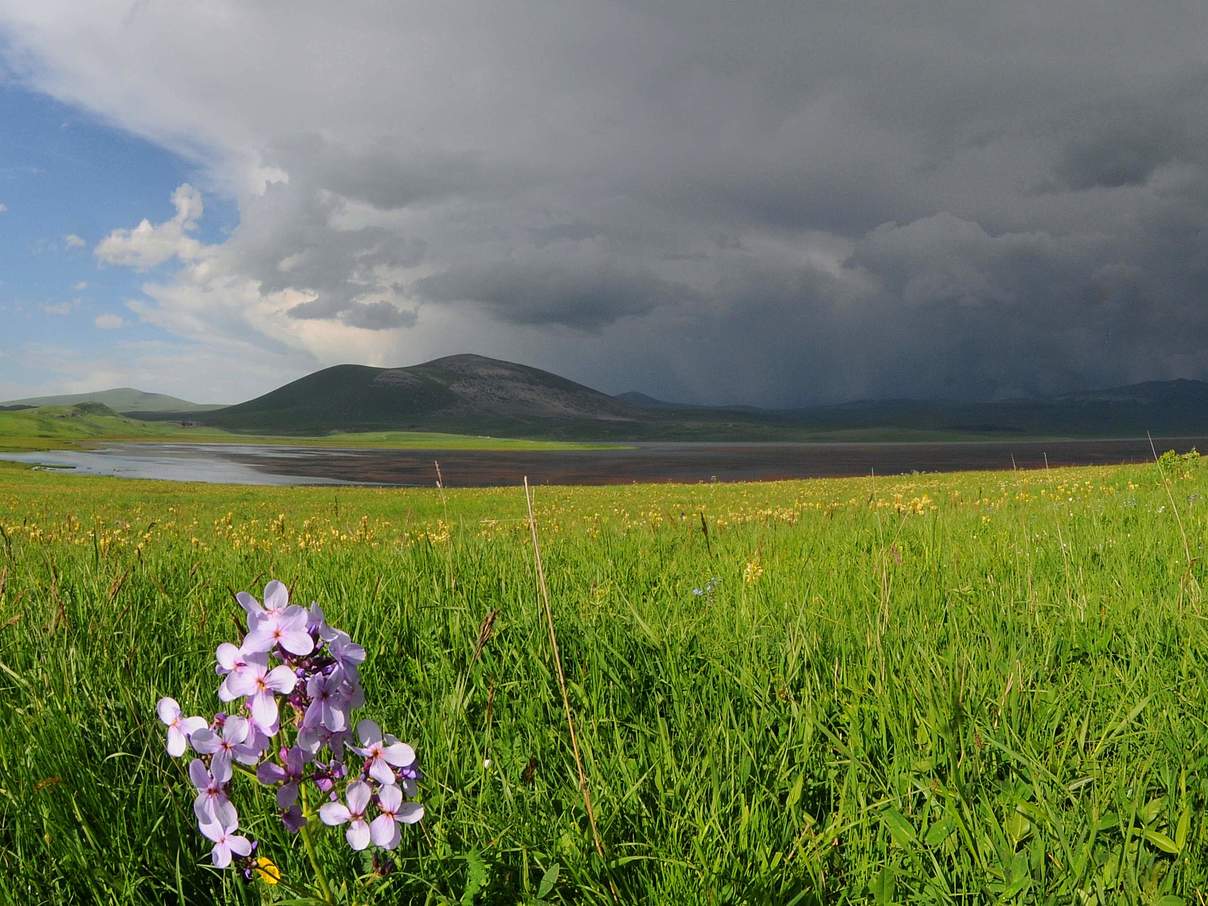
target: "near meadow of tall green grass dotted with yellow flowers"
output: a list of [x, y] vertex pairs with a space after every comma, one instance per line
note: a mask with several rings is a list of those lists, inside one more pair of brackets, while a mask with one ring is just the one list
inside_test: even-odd
[[[269, 577], [366, 646], [362, 714], [426, 773], [424, 821], [358, 902], [1204, 901], [1195, 458], [539, 488], [536, 519], [603, 858], [522, 490], [0, 464], [0, 902], [289, 896], [209, 867], [155, 715], [219, 707], [231, 592]], [[271, 792], [237, 784], [304, 885]], [[336, 831], [318, 858], [361, 869]]]

